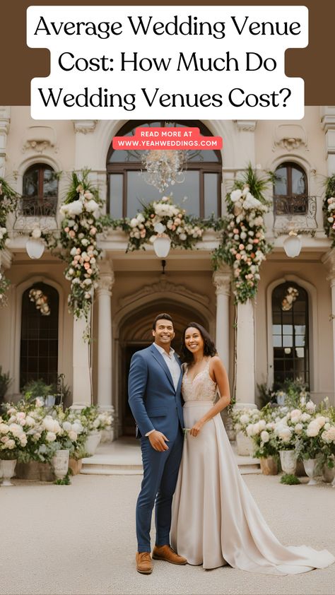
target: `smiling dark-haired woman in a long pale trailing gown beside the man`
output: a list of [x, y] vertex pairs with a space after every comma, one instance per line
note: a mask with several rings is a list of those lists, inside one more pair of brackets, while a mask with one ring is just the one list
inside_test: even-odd
[[[287, 575], [329, 566], [335, 558], [327, 550], [282, 546], [242, 480], [220, 416], [230, 403], [228, 377], [203, 326], [187, 326], [182, 354], [189, 430], [172, 505], [172, 547], [205, 569], [229, 564]], [[217, 390], [221, 396], [214, 404]]]

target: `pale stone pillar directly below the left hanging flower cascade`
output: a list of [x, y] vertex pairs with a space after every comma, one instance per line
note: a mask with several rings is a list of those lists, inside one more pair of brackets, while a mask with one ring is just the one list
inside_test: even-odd
[[91, 404], [90, 343], [84, 341], [87, 322], [84, 317], [74, 318], [74, 366], [72, 408], [81, 409]]

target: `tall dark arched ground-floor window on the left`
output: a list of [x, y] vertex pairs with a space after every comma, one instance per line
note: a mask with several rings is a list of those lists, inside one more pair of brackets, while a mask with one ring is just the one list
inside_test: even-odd
[[57, 382], [59, 295], [35, 283], [22, 296], [20, 389], [30, 380]]

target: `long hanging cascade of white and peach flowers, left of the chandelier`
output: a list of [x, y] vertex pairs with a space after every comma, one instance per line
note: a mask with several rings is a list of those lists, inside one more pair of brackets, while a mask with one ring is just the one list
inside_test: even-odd
[[96, 240], [97, 233], [102, 231], [99, 220], [102, 201], [88, 174], [89, 170], [82, 170], [79, 175], [73, 172], [66, 199], [59, 209], [64, 216], [60, 237], [53, 241], [46, 237], [52, 251], [57, 252], [59, 243], [63, 249], [58, 255], [66, 262], [64, 276], [71, 282], [69, 312], [86, 320], [98, 287], [98, 259], [102, 252]]

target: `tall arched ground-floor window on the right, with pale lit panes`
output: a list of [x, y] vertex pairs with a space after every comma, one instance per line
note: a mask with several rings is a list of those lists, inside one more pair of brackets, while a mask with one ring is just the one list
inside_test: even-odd
[[302, 378], [310, 385], [308, 295], [297, 283], [287, 281], [272, 293], [274, 386]]

